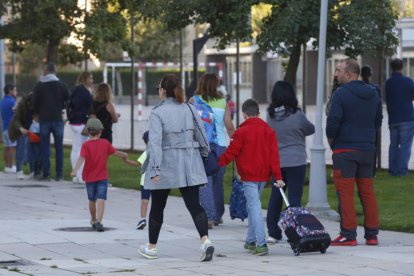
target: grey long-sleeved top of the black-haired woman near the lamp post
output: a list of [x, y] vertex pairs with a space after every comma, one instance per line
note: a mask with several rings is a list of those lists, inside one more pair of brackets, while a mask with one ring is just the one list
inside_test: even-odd
[[315, 126], [306, 118], [306, 115], [301, 110], [286, 115], [285, 109], [279, 108], [274, 118], [271, 118], [267, 114], [266, 121], [276, 132], [280, 167], [286, 168], [305, 165], [305, 137], [315, 132]]

